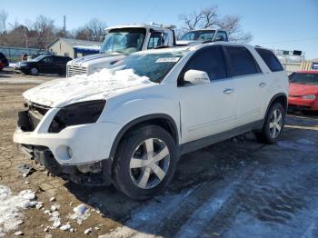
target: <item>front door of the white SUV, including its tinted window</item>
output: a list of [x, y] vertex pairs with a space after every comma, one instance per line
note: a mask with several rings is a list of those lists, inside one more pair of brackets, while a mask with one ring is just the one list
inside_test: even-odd
[[[210, 84], [181, 84], [188, 70], [209, 75]], [[220, 46], [196, 52], [179, 76], [183, 143], [218, 134], [233, 128], [235, 114], [234, 83], [228, 78]]]

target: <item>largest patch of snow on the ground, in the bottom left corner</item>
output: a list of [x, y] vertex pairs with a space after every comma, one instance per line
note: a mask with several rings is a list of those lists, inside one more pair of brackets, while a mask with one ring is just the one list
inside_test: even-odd
[[35, 193], [31, 190], [13, 195], [10, 188], [0, 185], [0, 233], [15, 230], [22, 222], [21, 209], [35, 206]]

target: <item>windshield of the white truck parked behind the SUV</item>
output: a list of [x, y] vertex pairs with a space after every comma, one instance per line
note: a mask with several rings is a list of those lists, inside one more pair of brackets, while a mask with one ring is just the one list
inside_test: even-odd
[[130, 55], [141, 51], [146, 30], [144, 28], [113, 29], [104, 38], [101, 53], [123, 53]]

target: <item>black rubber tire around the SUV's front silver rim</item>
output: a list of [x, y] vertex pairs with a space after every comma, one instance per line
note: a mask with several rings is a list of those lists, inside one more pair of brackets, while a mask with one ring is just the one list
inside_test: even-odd
[[[170, 164], [164, 180], [161, 183], [151, 189], [142, 189], [132, 181], [129, 165], [134, 149], [149, 138], [158, 138], [164, 141], [170, 153]], [[160, 126], [146, 125], [127, 134], [119, 145], [118, 153], [114, 158], [114, 186], [133, 199], [147, 199], [162, 191], [172, 180], [176, 162], [177, 148], [173, 137]]]

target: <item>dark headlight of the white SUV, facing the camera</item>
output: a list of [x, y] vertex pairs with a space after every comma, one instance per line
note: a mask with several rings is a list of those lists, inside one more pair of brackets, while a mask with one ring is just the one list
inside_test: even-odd
[[65, 127], [76, 124], [94, 124], [104, 110], [105, 100], [94, 100], [66, 105], [55, 114], [49, 133], [59, 133]]

